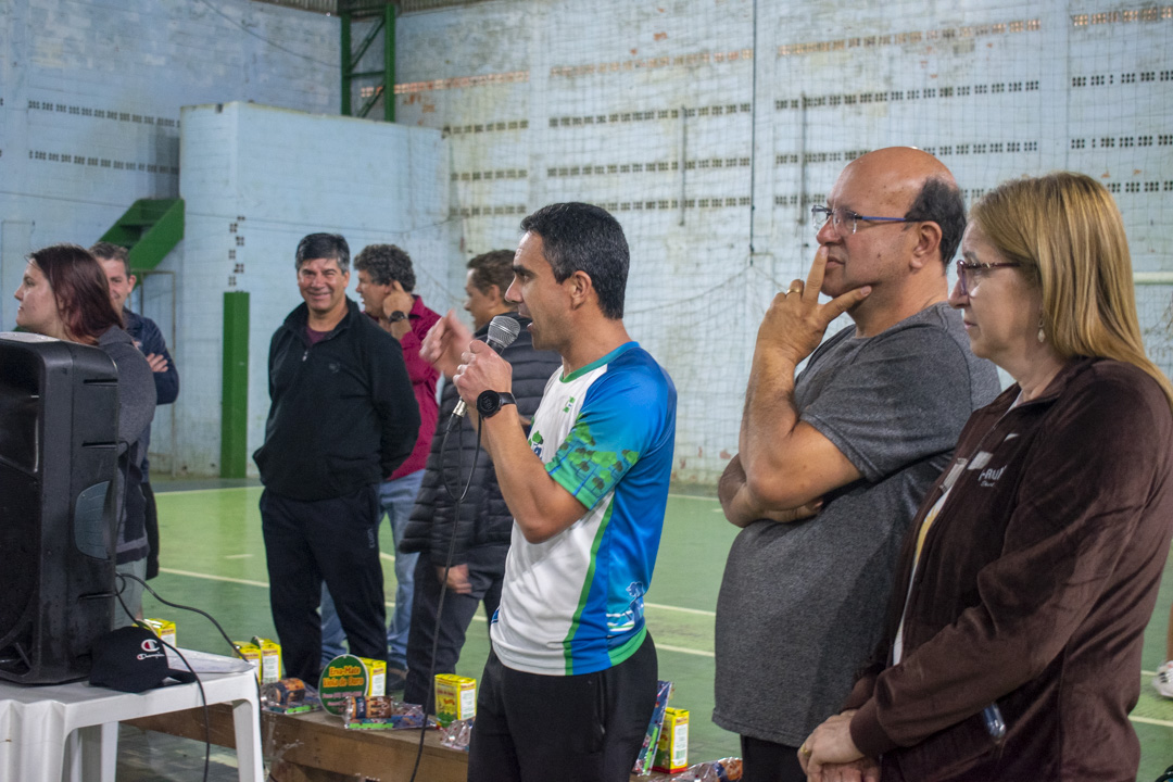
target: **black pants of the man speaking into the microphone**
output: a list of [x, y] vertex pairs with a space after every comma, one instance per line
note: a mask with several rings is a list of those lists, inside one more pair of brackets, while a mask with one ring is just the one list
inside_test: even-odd
[[656, 675], [650, 634], [619, 665], [574, 676], [513, 671], [489, 652], [469, 782], [626, 782], [656, 707]]

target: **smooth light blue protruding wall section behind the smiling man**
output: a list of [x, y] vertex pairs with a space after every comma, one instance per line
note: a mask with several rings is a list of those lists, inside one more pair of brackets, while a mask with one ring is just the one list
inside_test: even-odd
[[[436, 130], [308, 115], [253, 103], [183, 111], [181, 195], [187, 233], [179, 347], [196, 372], [177, 409], [187, 470], [219, 460], [224, 291], [250, 293], [249, 453], [269, 413], [266, 359], [273, 331], [301, 302], [293, 265], [307, 233], [341, 233], [352, 257], [375, 243], [412, 256], [419, 293], [443, 310], [462, 274], [449, 232], [447, 144]], [[351, 297], [357, 274], [351, 274]], [[328, 415], [324, 410], [323, 415]], [[250, 470], [255, 465], [250, 463]]]

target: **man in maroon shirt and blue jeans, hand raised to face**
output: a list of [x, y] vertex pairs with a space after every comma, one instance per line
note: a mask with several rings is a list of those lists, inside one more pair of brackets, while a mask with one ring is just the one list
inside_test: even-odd
[[[407, 633], [411, 628], [413, 574], [419, 553], [399, 553], [399, 542], [412, 515], [415, 495], [423, 478], [439, 408], [436, 381], [440, 373], [420, 358], [420, 344], [440, 315], [423, 306], [412, 293], [415, 271], [411, 257], [393, 244], [368, 245], [354, 258], [359, 284], [357, 292], [367, 315], [391, 333], [404, 348], [404, 362], [412, 379], [412, 390], [420, 407], [420, 434], [407, 461], [379, 488], [379, 502], [391, 519], [395, 538], [395, 612], [387, 627], [387, 692], [402, 689], [407, 672]], [[321, 596], [323, 662], [343, 653], [343, 631], [330, 593]]]

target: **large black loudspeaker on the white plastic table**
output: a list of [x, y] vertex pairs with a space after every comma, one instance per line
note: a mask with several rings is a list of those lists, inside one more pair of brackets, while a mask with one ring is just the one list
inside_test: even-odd
[[110, 632], [117, 431], [106, 353], [0, 334], [0, 679], [83, 679]]

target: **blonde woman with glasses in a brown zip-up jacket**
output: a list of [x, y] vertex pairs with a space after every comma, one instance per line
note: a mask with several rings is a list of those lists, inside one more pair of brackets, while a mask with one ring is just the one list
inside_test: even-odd
[[950, 304], [1015, 383], [974, 413], [913, 522], [884, 638], [809, 778], [1137, 778], [1128, 713], [1173, 535], [1173, 386], [1145, 355], [1107, 190], [1006, 182]]

